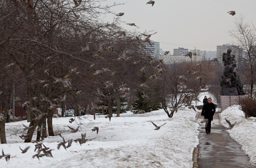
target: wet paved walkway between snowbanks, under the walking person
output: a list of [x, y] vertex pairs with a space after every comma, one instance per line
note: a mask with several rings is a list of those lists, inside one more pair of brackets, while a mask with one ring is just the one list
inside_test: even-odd
[[[202, 120], [201, 114], [198, 121]], [[214, 123], [214, 124], [213, 124]], [[211, 134], [206, 134], [205, 124], [201, 125], [197, 164], [199, 168], [252, 168], [249, 158], [221, 126], [218, 113], [212, 121]], [[195, 162], [195, 161], [194, 161]]]

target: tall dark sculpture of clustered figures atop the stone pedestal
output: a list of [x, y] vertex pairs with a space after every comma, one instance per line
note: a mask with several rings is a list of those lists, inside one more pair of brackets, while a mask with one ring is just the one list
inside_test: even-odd
[[243, 85], [236, 74], [235, 56], [231, 54], [232, 50], [228, 49], [227, 53], [223, 53], [222, 61], [224, 63], [223, 76], [220, 79], [222, 86], [220, 95], [222, 96], [237, 96], [245, 95]]

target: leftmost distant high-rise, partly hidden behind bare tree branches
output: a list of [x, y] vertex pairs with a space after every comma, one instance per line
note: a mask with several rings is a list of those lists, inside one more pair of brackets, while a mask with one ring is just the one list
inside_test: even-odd
[[159, 59], [160, 58], [160, 43], [159, 42], [154, 42], [150, 40], [150, 44], [144, 43], [144, 50], [150, 54], [152, 58]]

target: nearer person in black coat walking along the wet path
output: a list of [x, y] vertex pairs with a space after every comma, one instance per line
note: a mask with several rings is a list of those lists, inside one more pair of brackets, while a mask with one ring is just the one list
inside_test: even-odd
[[205, 128], [206, 134], [211, 132], [211, 122], [213, 120], [213, 115], [216, 111], [215, 105], [212, 103], [212, 98], [208, 98], [207, 103], [204, 105], [201, 116], [204, 116], [204, 119], [208, 119], [208, 125]]

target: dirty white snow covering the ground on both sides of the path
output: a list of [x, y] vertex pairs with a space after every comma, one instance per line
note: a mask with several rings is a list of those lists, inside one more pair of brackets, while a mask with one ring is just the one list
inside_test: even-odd
[[[212, 97], [208, 92], [199, 95], [203, 100], [204, 96]], [[214, 102], [213, 101], [213, 102]], [[215, 103], [215, 102], [214, 102]], [[202, 104], [199, 102], [199, 104]], [[1, 167], [31, 167], [37, 168], [124, 168], [124, 167], [172, 167], [192, 168], [192, 154], [199, 143], [200, 121], [195, 116], [199, 110], [190, 110], [187, 107], [179, 109], [172, 118], [168, 118], [164, 110], [156, 110], [145, 114], [133, 114], [127, 112], [120, 114], [120, 117], [104, 118], [103, 115], [86, 115], [80, 120], [69, 123], [71, 117], [53, 118], [55, 132], [62, 132], [66, 141], [81, 137], [86, 133], [88, 141], [82, 145], [72, 141], [72, 145], [66, 150], [61, 146], [57, 149], [58, 143], [62, 142], [60, 136], [49, 136], [41, 143], [52, 150], [52, 157], [43, 156], [32, 158], [37, 151], [34, 151], [35, 144], [24, 143], [19, 138], [24, 126], [29, 123], [24, 121], [6, 123], [7, 144], [0, 144], [0, 151], [10, 154], [10, 160], [0, 159]], [[245, 119], [244, 114], [238, 106], [231, 106], [221, 114], [221, 124], [228, 127], [225, 118], [231, 123], [236, 122], [232, 130], [227, 130], [234, 140], [241, 146], [242, 150], [250, 157], [250, 163], [256, 165], [256, 118]], [[154, 130], [155, 126], [161, 126]], [[213, 123], [217, 123], [214, 121]], [[72, 133], [72, 128], [79, 127], [79, 131]], [[92, 128], [99, 128], [98, 134], [92, 132]], [[32, 140], [35, 140], [36, 133]], [[67, 145], [67, 144], [66, 144]], [[28, 151], [22, 154], [19, 148], [30, 146]]]

